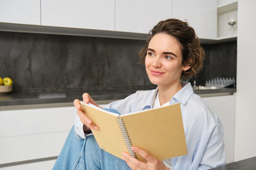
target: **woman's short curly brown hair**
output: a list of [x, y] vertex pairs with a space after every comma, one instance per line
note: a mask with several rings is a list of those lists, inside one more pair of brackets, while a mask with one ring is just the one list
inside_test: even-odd
[[200, 39], [196, 36], [195, 30], [188, 25], [188, 22], [175, 18], [162, 20], [150, 30], [145, 46], [140, 51], [141, 62], [145, 63], [150, 40], [160, 32], [169, 34], [179, 41], [182, 51], [182, 66], [191, 66], [188, 70], [182, 71], [180, 78], [188, 79], [195, 76], [202, 68], [204, 50], [200, 46]]

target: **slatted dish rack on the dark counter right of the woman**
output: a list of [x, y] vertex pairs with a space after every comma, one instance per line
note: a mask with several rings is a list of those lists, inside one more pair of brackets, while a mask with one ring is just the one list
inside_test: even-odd
[[236, 83], [235, 78], [213, 78], [211, 80], [206, 80], [205, 86], [206, 87], [228, 87], [230, 85], [234, 85]]

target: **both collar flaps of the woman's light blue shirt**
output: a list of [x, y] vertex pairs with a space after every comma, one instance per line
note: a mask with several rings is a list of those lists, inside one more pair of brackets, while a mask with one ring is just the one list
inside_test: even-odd
[[[180, 81], [182, 89], [179, 90], [172, 98], [176, 99], [181, 104], [186, 104], [189, 97], [194, 93], [191, 84], [186, 81]], [[141, 107], [141, 110], [148, 110], [153, 107], [154, 101], [156, 99], [158, 92], [158, 87], [154, 90], [151, 90], [148, 95], [145, 103]], [[171, 99], [172, 100], [172, 99]]]

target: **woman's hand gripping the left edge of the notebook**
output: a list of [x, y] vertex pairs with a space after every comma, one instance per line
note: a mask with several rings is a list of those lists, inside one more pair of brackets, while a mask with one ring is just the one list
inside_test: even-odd
[[[89, 94], [84, 93], [83, 94], [83, 102], [84, 103], [92, 103], [95, 106], [98, 106], [99, 108], [101, 108], [97, 103], [95, 103], [95, 101], [93, 101], [92, 97], [90, 97]], [[84, 132], [88, 132], [90, 131], [90, 129], [95, 129], [98, 130], [99, 127], [97, 127], [97, 125], [93, 124], [92, 120], [90, 120], [90, 118], [86, 117], [84, 111], [82, 110], [82, 106], [80, 104], [79, 99], [75, 99], [74, 100], [74, 106], [77, 109], [77, 115], [79, 116], [81, 122], [86, 125]]]

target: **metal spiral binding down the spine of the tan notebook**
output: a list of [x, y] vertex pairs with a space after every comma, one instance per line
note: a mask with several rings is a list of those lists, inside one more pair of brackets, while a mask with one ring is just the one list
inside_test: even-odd
[[134, 158], [138, 158], [136, 153], [134, 153], [132, 151], [132, 148], [131, 148], [132, 147], [132, 141], [131, 141], [131, 138], [130, 138], [129, 133], [127, 131], [127, 128], [125, 127], [123, 118], [116, 118], [116, 120], [117, 120], [117, 123], [120, 127], [120, 131], [121, 131], [122, 136], [125, 140], [125, 145], [126, 145], [128, 151], [129, 151], [130, 155], [132, 155], [132, 157], [134, 157]]

